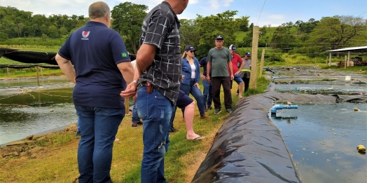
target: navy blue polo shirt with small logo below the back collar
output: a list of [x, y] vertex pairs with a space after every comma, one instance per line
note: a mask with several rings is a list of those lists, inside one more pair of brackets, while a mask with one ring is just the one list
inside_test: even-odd
[[130, 62], [120, 34], [100, 22], [87, 22], [71, 33], [59, 55], [73, 62], [75, 105], [124, 109], [126, 82], [117, 65]]

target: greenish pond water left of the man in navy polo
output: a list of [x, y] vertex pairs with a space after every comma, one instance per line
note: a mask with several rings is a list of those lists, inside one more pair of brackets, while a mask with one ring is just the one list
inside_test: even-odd
[[72, 90], [0, 95], [0, 144], [77, 123]]

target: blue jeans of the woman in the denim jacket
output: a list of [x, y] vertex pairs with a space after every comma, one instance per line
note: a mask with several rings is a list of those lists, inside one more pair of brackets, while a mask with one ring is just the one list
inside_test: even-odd
[[[186, 95], [190, 95], [190, 93], [191, 95], [193, 95], [193, 97], [196, 100], [196, 104], [198, 105], [200, 116], [203, 116], [205, 114], [204, 97], [202, 96], [202, 93], [199, 90], [199, 88], [196, 87], [194, 84], [195, 84], [195, 79], [191, 79], [190, 85], [181, 83], [180, 90], [182, 90]], [[183, 111], [185, 111], [185, 108], [181, 110], [183, 113]]]

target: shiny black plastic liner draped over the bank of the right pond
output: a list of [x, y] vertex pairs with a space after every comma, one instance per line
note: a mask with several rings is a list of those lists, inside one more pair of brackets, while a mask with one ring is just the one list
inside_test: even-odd
[[239, 100], [219, 129], [192, 182], [301, 182], [282, 135], [268, 116], [274, 102], [366, 103], [367, 95], [269, 91]]

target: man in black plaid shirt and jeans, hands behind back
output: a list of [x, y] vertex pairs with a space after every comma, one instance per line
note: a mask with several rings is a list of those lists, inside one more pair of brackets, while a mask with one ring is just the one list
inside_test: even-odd
[[169, 119], [179, 95], [181, 80], [180, 22], [188, 0], [166, 0], [146, 15], [134, 81], [121, 92], [137, 92], [137, 111], [143, 123], [144, 154], [141, 183], [166, 182], [164, 157], [169, 145]]

